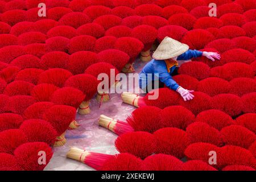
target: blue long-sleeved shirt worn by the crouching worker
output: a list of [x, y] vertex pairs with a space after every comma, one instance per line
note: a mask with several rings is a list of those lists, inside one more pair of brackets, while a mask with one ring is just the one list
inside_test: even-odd
[[[192, 57], [202, 56], [203, 52], [197, 50], [188, 50], [184, 52], [180, 56], [177, 57], [177, 60], [189, 60]], [[174, 72], [176, 66], [170, 68], [170, 72], [167, 70], [167, 65], [164, 60], [155, 60], [152, 59], [148, 62], [141, 73], [139, 73], [139, 87], [141, 89], [146, 88], [148, 82], [152, 82], [155, 79], [159, 79], [159, 81], [163, 82], [168, 88], [172, 90], [177, 90], [179, 85], [172, 78], [172, 72]], [[151, 73], [152, 75], [148, 75]]]

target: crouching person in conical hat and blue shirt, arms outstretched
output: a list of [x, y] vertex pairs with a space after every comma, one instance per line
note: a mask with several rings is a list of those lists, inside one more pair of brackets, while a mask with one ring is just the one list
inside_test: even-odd
[[212, 61], [215, 61], [214, 59], [220, 60], [220, 55], [216, 52], [190, 50], [186, 44], [169, 37], [164, 38], [154, 52], [153, 59], [139, 73], [140, 88], [144, 92], [149, 92], [166, 85], [178, 92], [184, 101], [192, 100], [194, 91], [179, 86], [172, 76], [177, 75], [177, 60], [189, 60], [199, 56], [205, 56]]

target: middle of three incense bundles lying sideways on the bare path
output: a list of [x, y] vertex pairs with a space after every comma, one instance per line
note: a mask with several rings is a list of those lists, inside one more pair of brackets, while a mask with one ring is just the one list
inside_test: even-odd
[[134, 131], [134, 129], [127, 122], [119, 121], [118, 119], [107, 117], [106, 115], [100, 116], [100, 119], [98, 119], [98, 125], [113, 131], [113, 133], [117, 135]]

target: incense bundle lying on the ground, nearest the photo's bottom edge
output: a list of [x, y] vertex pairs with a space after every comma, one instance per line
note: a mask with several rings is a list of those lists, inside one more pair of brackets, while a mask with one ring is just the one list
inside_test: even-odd
[[67, 158], [85, 163], [86, 165], [96, 170], [100, 170], [102, 168], [103, 163], [105, 163], [105, 161], [109, 159], [111, 156], [112, 155], [108, 154], [89, 152], [75, 147], [72, 147], [67, 153]]

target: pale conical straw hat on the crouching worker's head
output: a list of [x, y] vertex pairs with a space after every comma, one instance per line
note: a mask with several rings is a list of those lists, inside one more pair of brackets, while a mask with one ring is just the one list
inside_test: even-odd
[[171, 59], [188, 51], [188, 49], [189, 47], [187, 44], [180, 43], [179, 41], [166, 36], [166, 38], [164, 38], [163, 41], [160, 43], [152, 57], [156, 60]]

